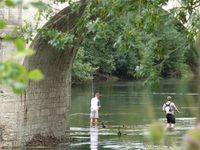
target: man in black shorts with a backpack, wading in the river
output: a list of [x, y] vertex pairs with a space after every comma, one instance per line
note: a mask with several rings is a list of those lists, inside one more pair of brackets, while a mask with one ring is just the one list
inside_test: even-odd
[[162, 110], [166, 113], [167, 129], [174, 129], [176, 123], [174, 111], [179, 112], [179, 110], [176, 107], [176, 105], [172, 102], [171, 96], [167, 96], [167, 102], [163, 104]]

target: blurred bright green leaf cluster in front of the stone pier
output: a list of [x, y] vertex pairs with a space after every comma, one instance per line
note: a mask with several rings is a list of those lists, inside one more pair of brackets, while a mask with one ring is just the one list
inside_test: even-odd
[[7, 37], [8, 40], [15, 44], [16, 53], [10, 59], [0, 63], [0, 84], [11, 87], [16, 94], [21, 94], [29, 80], [41, 80], [43, 75], [39, 70], [28, 72], [25, 67], [16, 63], [17, 60], [34, 54], [32, 49], [26, 48], [25, 41], [19, 38], [13, 41], [11, 37]]

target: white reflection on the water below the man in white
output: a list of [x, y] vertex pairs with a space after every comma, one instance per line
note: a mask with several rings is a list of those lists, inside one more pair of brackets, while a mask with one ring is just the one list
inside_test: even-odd
[[90, 128], [90, 149], [91, 150], [98, 150], [98, 127], [91, 127]]

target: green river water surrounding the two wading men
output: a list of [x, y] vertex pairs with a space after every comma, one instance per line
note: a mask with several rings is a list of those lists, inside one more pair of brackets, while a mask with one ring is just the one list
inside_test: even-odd
[[[182, 149], [182, 139], [195, 123], [198, 81], [164, 80], [157, 90], [147, 90], [142, 82], [105, 82], [72, 88], [70, 150]], [[100, 124], [90, 127], [90, 99], [101, 92]], [[181, 113], [176, 114], [176, 130], [166, 132], [164, 144], [151, 145], [148, 131], [153, 121], [165, 126], [162, 105], [171, 95]], [[120, 133], [120, 134], [119, 134]], [[173, 149], [172, 148], [172, 149]]]

